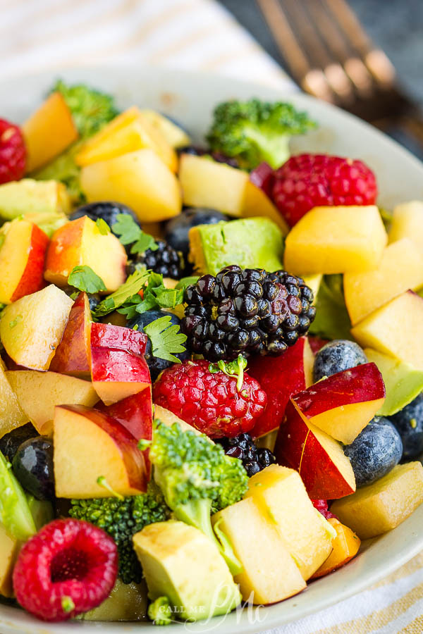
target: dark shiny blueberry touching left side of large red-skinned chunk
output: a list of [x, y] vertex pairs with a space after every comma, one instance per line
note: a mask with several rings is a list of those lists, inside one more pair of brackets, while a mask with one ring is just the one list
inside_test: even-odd
[[54, 499], [53, 442], [44, 436], [25, 440], [12, 462], [20, 484], [37, 499]]

